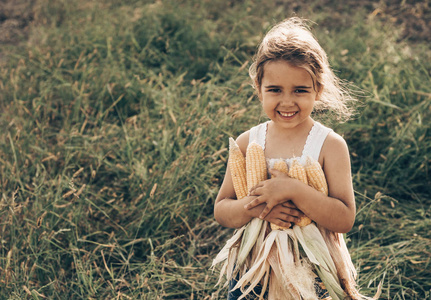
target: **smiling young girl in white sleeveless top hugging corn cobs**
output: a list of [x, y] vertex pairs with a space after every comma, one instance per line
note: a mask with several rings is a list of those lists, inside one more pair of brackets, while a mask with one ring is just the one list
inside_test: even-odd
[[[346, 106], [351, 98], [330, 69], [325, 51], [301, 19], [291, 18], [264, 37], [250, 76], [270, 120], [242, 133], [236, 142], [244, 155], [250, 142], [262, 146], [271, 178], [237, 200], [228, 168], [215, 201], [215, 219], [231, 228], [258, 217], [287, 227], [305, 214], [327, 230], [349, 232], [355, 220], [349, 151], [340, 135], [312, 117], [315, 111], [332, 112], [340, 119], [351, 114]], [[307, 156], [322, 166], [328, 196], [271, 169], [276, 159], [290, 165], [293, 158], [305, 163]], [[330, 299], [318, 282], [319, 299]], [[229, 299], [240, 295], [238, 289], [230, 291]]]

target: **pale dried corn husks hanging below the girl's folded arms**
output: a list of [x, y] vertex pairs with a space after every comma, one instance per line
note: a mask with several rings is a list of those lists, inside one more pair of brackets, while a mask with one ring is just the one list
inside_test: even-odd
[[267, 233], [269, 228], [267, 221], [253, 219], [235, 232], [213, 261], [213, 268], [222, 263], [217, 284], [223, 275], [225, 286], [238, 276], [234, 289], [241, 289], [239, 299], [258, 284], [259, 299], [265, 292], [270, 300], [317, 299], [316, 272], [334, 300], [371, 299], [356, 288], [356, 271], [342, 234], [315, 223]]

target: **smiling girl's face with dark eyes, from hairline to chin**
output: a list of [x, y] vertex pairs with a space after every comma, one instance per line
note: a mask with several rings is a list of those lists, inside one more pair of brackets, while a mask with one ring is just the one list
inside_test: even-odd
[[319, 96], [305, 69], [284, 60], [265, 64], [259, 98], [263, 110], [275, 124], [295, 128], [311, 121], [310, 114]]

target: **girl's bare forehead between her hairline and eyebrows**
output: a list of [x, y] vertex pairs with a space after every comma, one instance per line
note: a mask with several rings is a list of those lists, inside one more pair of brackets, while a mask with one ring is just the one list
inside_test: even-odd
[[285, 60], [275, 60], [263, 67], [262, 85], [310, 85], [313, 79], [307, 70], [291, 65]]

